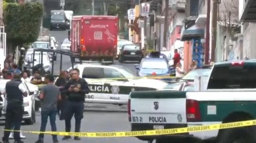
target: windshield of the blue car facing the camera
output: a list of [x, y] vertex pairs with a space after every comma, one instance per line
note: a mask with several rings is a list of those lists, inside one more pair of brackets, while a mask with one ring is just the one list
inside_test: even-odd
[[168, 69], [168, 63], [165, 60], [144, 61], [141, 66], [142, 69]]

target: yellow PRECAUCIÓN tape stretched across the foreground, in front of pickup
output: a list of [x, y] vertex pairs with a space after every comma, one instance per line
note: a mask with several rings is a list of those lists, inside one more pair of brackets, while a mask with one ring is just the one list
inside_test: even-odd
[[[152, 136], [152, 135], [167, 135], [167, 134], [177, 134], [177, 133], [187, 133], [187, 132], [199, 132], [199, 131], [209, 131], [217, 129], [227, 129], [235, 127], [244, 127], [256, 125], [256, 120], [238, 121], [231, 123], [220, 123], [212, 125], [201, 125], [201, 126], [191, 126], [183, 128], [172, 128], [172, 129], [160, 129], [160, 130], [144, 130], [144, 131], [122, 131], [122, 132], [39, 132], [39, 131], [22, 131], [26, 133], [44, 133], [60, 136], [80, 136], [80, 137], [92, 137], [92, 138], [106, 138], [106, 137], [135, 137], [135, 136]], [[11, 131], [11, 130], [6, 130]]]

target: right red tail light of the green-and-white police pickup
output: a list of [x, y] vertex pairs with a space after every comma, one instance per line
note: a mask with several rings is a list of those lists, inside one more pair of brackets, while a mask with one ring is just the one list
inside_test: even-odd
[[186, 101], [187, 121], [194, 122], [201, 120], [199, 102], [196, 100], [187, 99]]

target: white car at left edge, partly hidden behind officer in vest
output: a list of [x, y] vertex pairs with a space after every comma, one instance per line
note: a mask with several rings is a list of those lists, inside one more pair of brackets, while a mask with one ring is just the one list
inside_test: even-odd
[[[0, 91], [3, 92], [6, 83], [10, 80], [1, 79], [0, 80]], [[23, 120], [25, 121], [25, 124], [34, 124], [36, 122], [36, 114], [35, 114], [35, 97], [38, 96], [38, 87], [27, 83], [22, 82], [28, 92], [28, 96], [23, 98], [23, 106], [24, 106], [24, 113], [23, 113]], [[2, 105], [5, 106], [6, 100], [4, 98], [4, 95], [1, 95], [4, 102], [2, 102]], [[0, 120], [5, 120], [5, 107], [2, 111], [2, 116], [0, 117]]]

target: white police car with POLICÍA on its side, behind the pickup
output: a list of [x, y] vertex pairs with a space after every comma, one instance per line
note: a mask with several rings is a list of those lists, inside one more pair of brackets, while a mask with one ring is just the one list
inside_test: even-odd
[[[74, 65], [80, 78], [88, 83], [90, 92], [85, 102], [124, 105], [131, 91], [162, 89], [168, 83], [155, 79], [138, 79], [135, 73], [121, 65], [82, 63]], [[72, 68], [69, 68], [70, 70]]]

